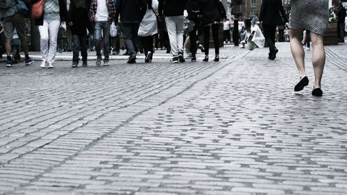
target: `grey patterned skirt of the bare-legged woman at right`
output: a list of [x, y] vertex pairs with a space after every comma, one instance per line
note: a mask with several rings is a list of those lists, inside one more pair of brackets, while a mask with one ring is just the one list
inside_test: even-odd
[[289, 28], [323, 35], [329, 22], [328, 0], [291, 0]]

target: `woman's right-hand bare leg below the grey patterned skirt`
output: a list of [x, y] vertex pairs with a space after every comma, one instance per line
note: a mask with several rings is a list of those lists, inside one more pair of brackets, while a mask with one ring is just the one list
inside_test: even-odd
[[321, 88], [321, 79], [325, 65], [325, 50], [323, 45], [323, 35], [311, 33], [312, 41], [312, 64], [314, 69], [314, 85], [313, 88]]

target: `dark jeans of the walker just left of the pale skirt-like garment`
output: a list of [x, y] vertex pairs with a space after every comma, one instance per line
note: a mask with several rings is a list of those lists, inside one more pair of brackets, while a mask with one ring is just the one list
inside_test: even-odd
[[137, 37], [137, 32], [139, 31], [139, 23], [121, 23], [121, 31], [124, 35], [124, 41], [126, 42], [126, 47], [128, 48], [128, 53], [130, 56], [136, 56], [135, 52], [135, 40]]

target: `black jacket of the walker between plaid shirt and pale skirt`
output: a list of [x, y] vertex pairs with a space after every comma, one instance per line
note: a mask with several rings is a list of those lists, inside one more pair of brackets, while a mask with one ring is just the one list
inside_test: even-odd
[[117, 0], [115, 21], [118, 22], [120, 14], [121, 22], [141, 22], [146, 10], [146, 0]]

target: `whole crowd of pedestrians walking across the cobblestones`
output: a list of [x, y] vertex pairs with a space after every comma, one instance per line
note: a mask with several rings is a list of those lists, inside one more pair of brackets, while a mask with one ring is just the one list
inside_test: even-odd
[[[18, 3], [19, 1], [23, 3]], [[167, 53], [172, 54], [172, 63], [185, 62], [188, 51], [192, 62], [196, 62], [198, 48], [205, 53], [203, 61], [207, 62], [210, 31], [214, 43], [214, 61], [219, 61], [219, 24], [223, 21], [225, 43], [230, 43], [230, 29], [234, 28], [234, 17], [227, 19], [226, 10], [219, 0], [92, 0], [90, 10], [81, 6], [81, 0], [71, 0], [69, 10], [64, 0], [0, 0], [0, 18], [6, 37], [7, 67], [12, 67], [12, 57], [18, 58], [19, 42], [22, 42], [26, 65], [34, 62], [28, 56], [25, 16], [30, 13], [30, 5], [39, 1], [44, 1], [44, 8], [42, 15], [34, 19], [34, 24], [40, 32], [42, 68], [54, 67], [56, 53], [61, 49], [58, 39], [61, 22], [66, 22], [71, 32], [72, 67], [78, 66], [80, 51], [82, 66], [87, 66], [88, 33], [90, 51], [96, 50], [96, 66], [109, 66], [110, 53], [119, 54], [121, 33], [124, 36], [129, 64], [136, 63], [139, 51], [143, 51], [145, 62], [152, 62], [154, 46], [158, 48], [158, 42], [161, 44], [160, 48], [164, 46]], [[346, 10], [338, 1], [334, 2], [337, 2], [333, 9], [339, 18], [339, 41], [344, 42]], [[23, 4], [29, 9], [20, 7]], [[292, 0], [290, 19], [285, 14], [281, 0], [262, 1], [259, 22], [262, 22], [264, 37], [269, 45], [269, 59], [275, 60], [278, 53], [275, 46], [278, 31], [278, 40], [291, 42], [291, 51], [300, 74], [299, 82], [294, 87], [295, 91], [303, 90], [309, 83], [305, 74], [305, 53], [302, 44], [305, 42], [307, 49], [310, 49], [312, 42], [315, 76], [312, 94], [323, 94], [323, 33], [328, 25], [328, 17], [326, 0]], [[246, 36], [251, 22], [248, 23], [242, 33]], [[254, 19], [253, 25], [256, 23], [257, 20]], [[169, 41], [165, 42], [165, 38]], [[110, 50], [111, 46], [113, 51]], [[15, 51], [12, 57], [11, 51]]]

